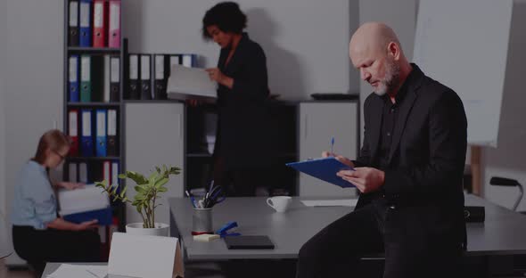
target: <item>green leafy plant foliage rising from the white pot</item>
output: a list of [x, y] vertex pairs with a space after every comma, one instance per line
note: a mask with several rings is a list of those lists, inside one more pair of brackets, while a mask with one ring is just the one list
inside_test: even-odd
[[129, 178], [136, 183], [134, 186], [136, 190], [134, 200], [128, 200], [126, 197], [127, 185], [125, 185], [120, 192], [118, 192], [119, 184], [110, 184], [110, 182], [106, 180], [96, 182], [95, 185], [108, 193], [113, 201], [121, 200], [131, 203], [132, 206], [136, 207], [141, 217], [143, 217], [143, 227], [154, 228], [155, 208], [160, 206], [156, 201], [162, 192], [168, 191], [168, 188], [164, 185], [168, 183], [169, 176], [178, 175], [180, 172], [180, 168], [168, 168], [166, 165], [162, 165], [162, 167], [156, 166], [155, 171], [153, 171], [148, 178], [133, 171], [126, 171], [126, 174], [120, 174], [120, 179]]

